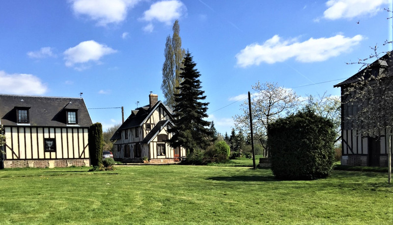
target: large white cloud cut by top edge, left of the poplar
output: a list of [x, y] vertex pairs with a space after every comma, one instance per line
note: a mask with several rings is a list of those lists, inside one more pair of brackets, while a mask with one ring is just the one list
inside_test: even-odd
[[97, 25], [106, 26], [120, 23], [126, 19], [127, 10], [140, 0], [70, 0], [76, 15], [85, 15], [97, 21]]

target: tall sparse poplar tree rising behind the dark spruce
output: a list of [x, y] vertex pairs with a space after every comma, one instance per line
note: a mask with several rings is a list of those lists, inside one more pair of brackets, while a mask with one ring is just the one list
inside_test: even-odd
[[163, 64], [163, 83], [161, 90], [164, 93], [165, 104], [170, 108], [175, 105], [174, 94], [179, 94], [180, 83], [183, 79], [180, 77], [182, 60], [185, 55], [185, 50], [181, 48], [180, 26], [179, 21], [176, 20], [172, 27], [172, 37], [168, 35], [167, 42], [165, 43], [164, 56], [165, 61]]

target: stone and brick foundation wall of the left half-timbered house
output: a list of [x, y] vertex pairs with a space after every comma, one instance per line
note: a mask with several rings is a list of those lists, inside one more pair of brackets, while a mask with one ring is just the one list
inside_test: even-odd
[[89, 159], [43, 159], [43, 160], [5, 160], [4, 168], [55, 168], [55, 167], [70, 167], [70, 166], [90, 166]]

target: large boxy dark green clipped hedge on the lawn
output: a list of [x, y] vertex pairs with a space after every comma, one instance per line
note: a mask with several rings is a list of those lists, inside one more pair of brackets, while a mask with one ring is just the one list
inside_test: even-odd
[[329, 176], [335, 162], [333, 123], [310, 109], [269, 125], [272, 171], [279, 179]]

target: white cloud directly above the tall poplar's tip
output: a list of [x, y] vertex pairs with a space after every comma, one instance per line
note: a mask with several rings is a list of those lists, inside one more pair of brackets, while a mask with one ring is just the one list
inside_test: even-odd
[[143, 13], [142, 20], [152, 22], [157, 20], [166, 25], [186, 14], [187, 8], [179, 0], [163, 0], [150, 5], [150, 9]]

